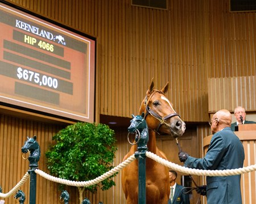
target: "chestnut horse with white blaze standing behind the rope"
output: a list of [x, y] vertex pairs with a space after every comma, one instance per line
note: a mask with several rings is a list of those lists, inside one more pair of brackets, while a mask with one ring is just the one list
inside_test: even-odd
[[[154, 89], [153, 79], [144, 97], [139, 114], [144, 112], [148, 125], [148, 151], [167, 159], [162, 151], [156, 147], [156, 133], [169, 134], [179, 137], [185, 131], [185, 123], [172, 108], [166, 98], [168, 83], [162, 90]], [[137, 145], [131, 146], [130, 151], [123, 160], [129, 158], [137, 151]], [[138, 203], [138, 160], [127, 165], [122, 171], [122, 188], [127, 204]], [[170, 182], [168, 168], [147, 158], [146, 160], [146, 203], [167, 204], [170, 196]]]

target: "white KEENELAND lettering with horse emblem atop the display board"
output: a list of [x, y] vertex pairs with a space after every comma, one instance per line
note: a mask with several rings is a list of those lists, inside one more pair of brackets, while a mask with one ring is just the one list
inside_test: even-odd
[[63, 36], [61, 35], [53, 35], [51, 32], [48, 32], [48, 31], [45, 31], [44, 29], [40, 29], [38, 27], [35, 27], [34, 25], [30, 25], [28, 23], [24, 23], [22, 22], [21, 20], [17, 20], [16, 19], [16, 25], [15, 27], [17, 28], [20, 28], [20, 29], [23, 29], [24, 31], [27, 31], [27, 32], [31, 32], [35, 35], [38, 35], [38, 36], [41, 36], [41, 37], [44, 37], [48, 40], [53, 40], [53, 41], [57, 41], [57, 43], [59, 44], [63, 44], [65, 45], [65, 39]]

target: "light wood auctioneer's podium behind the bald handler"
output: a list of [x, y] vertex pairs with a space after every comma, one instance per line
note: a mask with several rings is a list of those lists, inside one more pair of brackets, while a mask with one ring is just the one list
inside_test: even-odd
[[[238, 125], [238, 131], [234, 131], [242, 142], [245, 150], [243, 167], [256, 164], [256, 124]], [[204, 138], [204, 155], [208, 150], [212, 135]], [[241, 175], [242, 203], [256, 203], [256, 172], [243, 173]]]

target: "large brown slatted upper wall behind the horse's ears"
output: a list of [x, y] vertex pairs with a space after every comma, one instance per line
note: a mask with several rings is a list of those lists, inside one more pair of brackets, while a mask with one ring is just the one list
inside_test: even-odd
[[[97, 37], [100, 114], [138, 112], [151, 78], [185, 121], [207, 121], [207, 78], [256, 75], [255, 12], [228, 0], [168, 1], [168, 10], [125, 1], [10, 1]], [[132, 104], [131, 104], [132, 103]]]

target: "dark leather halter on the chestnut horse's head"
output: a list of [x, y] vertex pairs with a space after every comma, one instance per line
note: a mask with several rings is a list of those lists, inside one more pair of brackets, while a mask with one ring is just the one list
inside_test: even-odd
[[[158, 91], [158, 92], [160, 92], [161, 94], [163, 94], [162, 91]], [[153, 94], [152, 94], [152, 95], [153, 95]], [[152, 95], [151, 95], [151, 96], [152, 96]], [[171, 113], [171, 114], [168, 114], [167, 116], [164, 116], [164, 117], [159, 116], [159, 114], [156, 114], [154, 111], [152, 111], [152, 109], [151, 109], [150, 106], [148, 105], [147, 96], [145, 97], [144, 105], [146, 106], [146, 108], [145, 108], [145, 109], [146, 109], [146, 114], [145, 114], [144, 119], [146, 120], [147, 115], [150, 114], [151, 116], [153, 116], [154, 118], [156, 118], [156, 120], [159, 121], [159, 124], [158, 124], [158, 126], [156, 127], [156, 129], [155, 129], [155, 132], [158, 133], [158, 134], [160, 134], [160, 133], [158, 132], [158, 130], [160, 129], [160, 127], [161, 127], [163, 124], [166, 125], [166, 126], [168, 126], [169, 128], [171, 127], [171, 125], [169, 125], [169, 124], [167, 124], [167, 123], [165, 122], [168, 118], [171, 118], [171, 117], [174, 117], [174, 116], [179, 116], [179, 114], [177, 114], [177, 113]], [[180, 118], [180, 116], [179, 116], [179, 118]]]

